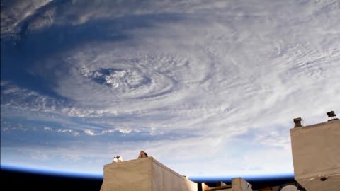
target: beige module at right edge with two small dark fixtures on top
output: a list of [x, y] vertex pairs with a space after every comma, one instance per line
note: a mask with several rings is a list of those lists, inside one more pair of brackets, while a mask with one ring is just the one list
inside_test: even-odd
[[327, 122], [290, 129], [295, 180], [307, 191], [340, 190], [340, 120], [334, 112]]

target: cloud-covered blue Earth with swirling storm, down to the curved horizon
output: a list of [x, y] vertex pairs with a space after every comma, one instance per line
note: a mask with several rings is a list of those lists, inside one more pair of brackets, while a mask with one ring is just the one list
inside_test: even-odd
[[292, 173], [291, 120], [339, 110], [338, 13], [339, 1], [4, 1], [1, 161], [98, 174], [145, 149], [189, 176]]

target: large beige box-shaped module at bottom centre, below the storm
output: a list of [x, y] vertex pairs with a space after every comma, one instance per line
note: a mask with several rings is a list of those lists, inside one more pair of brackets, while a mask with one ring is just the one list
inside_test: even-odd
[[196, 191], [197, 184], [152, 157], [104, 166], [101, 191]]

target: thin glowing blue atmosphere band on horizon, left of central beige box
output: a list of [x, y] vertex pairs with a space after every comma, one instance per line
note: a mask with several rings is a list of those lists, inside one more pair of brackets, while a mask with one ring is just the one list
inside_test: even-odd
[[49, 170], [42, 168], [29, 168], [25, 166], [11, 166], [6, 164], [1, 164], [1, 170], [13, 170], [20, 173], [36, 173], [40, 175], [56, 175], [64, 176], [69, 178], [89, 178], [89, 179], [103, 179], [103, 174], [96, 173], [79, 173], [79, 172], [69, 172], [64, 170]]

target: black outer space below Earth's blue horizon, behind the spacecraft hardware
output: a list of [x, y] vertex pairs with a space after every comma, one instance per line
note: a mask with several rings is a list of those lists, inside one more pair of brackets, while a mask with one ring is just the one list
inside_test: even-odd
[[[218, 181], [218, 180], [216, 180]], [[196, 180], [196, 183], [205, 182], [215, 186], [214, 180]], [[223, 180], [230, 183], [230, 180]], [[253, 185], [253, 189], [272, 187], [286, 183], [293, 183], [293, 177], [287, 178], [266, 178], [247, 180]], [[78, 178], [62, 175], [48, 175], [42, 173], [28, 173], [18, 170], [1, 169], [1, 190], [94, 190], [101, 189], [101, 178]]]

